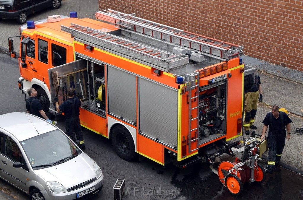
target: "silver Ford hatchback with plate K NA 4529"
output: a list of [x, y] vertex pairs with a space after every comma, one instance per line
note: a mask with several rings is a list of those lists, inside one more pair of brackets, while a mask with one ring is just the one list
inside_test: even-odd
[[0, 177], [30, 199], [84, 199], [104, 175], [62, 130], [34, 115], [0, 115]]

